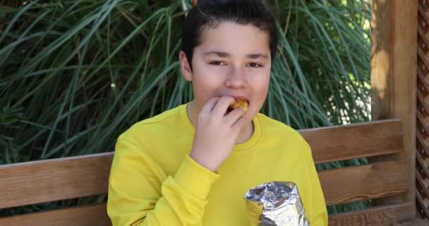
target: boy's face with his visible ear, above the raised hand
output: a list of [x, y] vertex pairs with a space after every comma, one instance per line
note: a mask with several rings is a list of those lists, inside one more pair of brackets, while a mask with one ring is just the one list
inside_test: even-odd
[[248, 100], [254, 117], [267, 97], [271, 55], [269, 35], [253, 25], [220, 23], [205, 28], [202, 44], [194, 48], [192, 70], [181, 52], [184, 78], [192, 81], [198, 111], [212, 97]]

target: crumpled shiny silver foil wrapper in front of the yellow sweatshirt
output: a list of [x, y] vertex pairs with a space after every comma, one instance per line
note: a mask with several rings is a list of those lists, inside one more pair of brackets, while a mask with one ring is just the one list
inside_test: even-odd
[[268, 182], [244, 195], [251, 226], [310, 226], [294, 182]]

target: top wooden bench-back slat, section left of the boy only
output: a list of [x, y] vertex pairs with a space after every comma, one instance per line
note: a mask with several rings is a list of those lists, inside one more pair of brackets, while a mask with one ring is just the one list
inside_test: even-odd
[[107, 193], [113, 153], [0, 165], [0, 208]]

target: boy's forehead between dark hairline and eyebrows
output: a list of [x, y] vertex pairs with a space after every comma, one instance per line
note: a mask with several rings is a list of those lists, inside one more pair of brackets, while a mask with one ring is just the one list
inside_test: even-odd
[[201, 44], [195, 51], [222, 51], [229, 54], [270, 54], [270, 40], [267, 32], [253, 25], [223, 22], [213, 28], [205, 28]]

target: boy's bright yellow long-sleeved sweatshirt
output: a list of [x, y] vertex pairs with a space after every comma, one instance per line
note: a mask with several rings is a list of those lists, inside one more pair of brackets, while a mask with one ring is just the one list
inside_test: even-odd
[[248, 226], [243, 195], [271, 181], [295, 182], [311, 226], [327, 225], [327, 209], [310, 146], [291, 127], [258, 114], [255, 131], [216, 173], [195, 162], [195, 127], [181, 105], [119, 136], [109, 177], [113, 226]]

